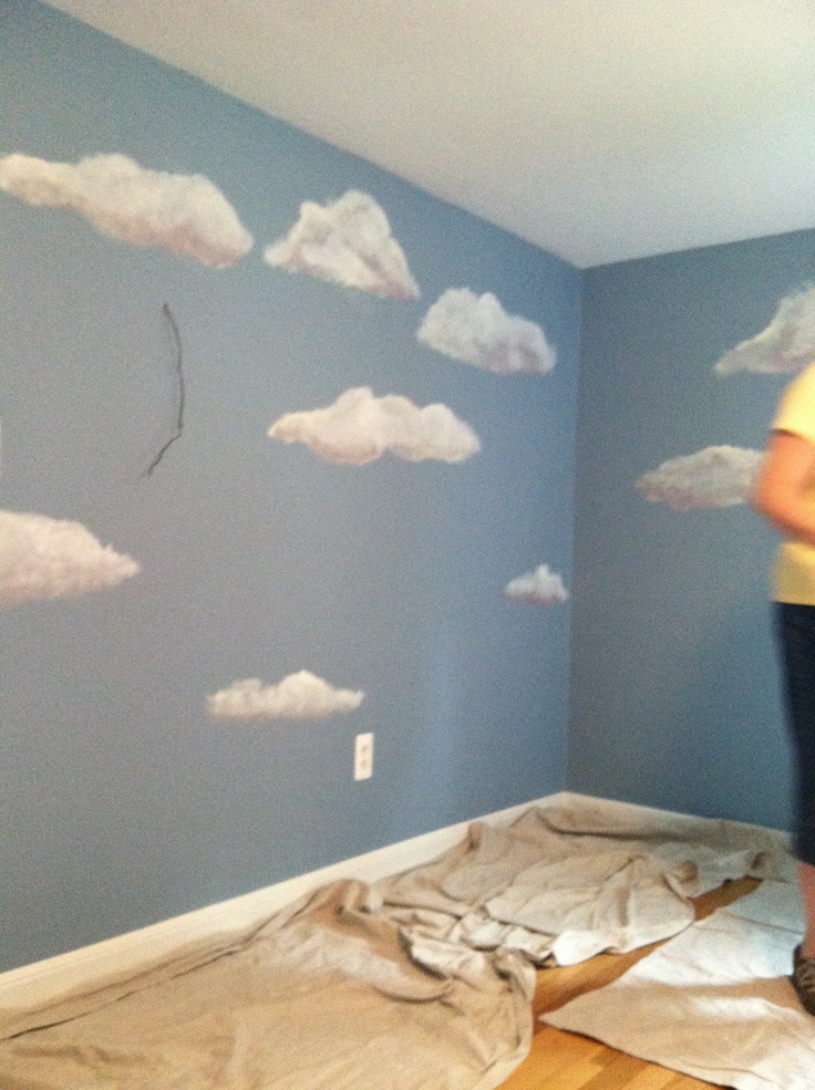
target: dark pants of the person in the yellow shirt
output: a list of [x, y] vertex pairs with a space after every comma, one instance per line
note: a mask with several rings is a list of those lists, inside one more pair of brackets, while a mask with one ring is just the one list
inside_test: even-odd
[[815, 605], [776, 602], [775, 609], [795, 761], [795, 854], [815, 865]]

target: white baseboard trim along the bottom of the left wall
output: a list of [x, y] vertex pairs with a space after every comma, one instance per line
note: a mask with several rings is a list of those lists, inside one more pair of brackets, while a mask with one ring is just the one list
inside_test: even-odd
[[[568, 797], [568, 792], [561, 791], [483, 818], [473, 818], [472, 821], [485, 821], [494, 826], [510, 824], [529, 807], [554, 806]], [[375, 882], [419, 866], [460, 843], [472, 821], [436, 829], [229, 901], [210, 904], [138, 931], [0, 973], [0, 1007], [33, 1008], [51, 1003], [114, 973], [136, 969], [145, 961], [155, 962], [187, 943], [220, 932], [250, 927], [298, 897], [330, 882], [342, 879]]]

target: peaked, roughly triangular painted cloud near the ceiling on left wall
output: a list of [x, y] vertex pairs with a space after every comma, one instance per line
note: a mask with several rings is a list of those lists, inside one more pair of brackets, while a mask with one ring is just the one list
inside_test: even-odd
[[268, 247], [264, 257], [289, 272], [305, 270], [343, 288], [419, 299], [419, 286], [388, 217], [373, 197], [354, 189], [326, 207], [305, 201], [288, 236]]

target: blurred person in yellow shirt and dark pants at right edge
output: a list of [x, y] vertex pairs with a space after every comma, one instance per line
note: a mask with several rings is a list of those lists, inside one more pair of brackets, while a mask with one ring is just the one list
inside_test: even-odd
[[781, 398], [753, 506], [784, 538], [773, 598], [795, 761], [794, 849], [806, 913], [793, 984], [815, 1015], [815, 364]]

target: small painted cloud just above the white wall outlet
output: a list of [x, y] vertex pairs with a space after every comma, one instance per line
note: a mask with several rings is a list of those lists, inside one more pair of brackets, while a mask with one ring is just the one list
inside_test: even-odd
[[207, 703], [213, 715], [225, 719], [324, 719], [340, 712], [352, 712], [364, 696], [348, 688], [334, 688], [301, 669], [277, 685], [262, 685], [257, 678], [235, 682], [207, 697]]

